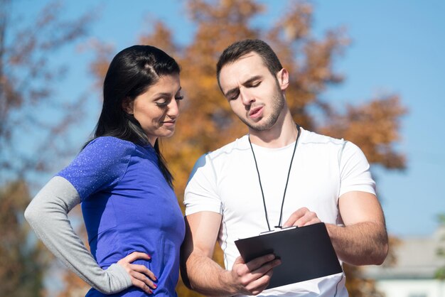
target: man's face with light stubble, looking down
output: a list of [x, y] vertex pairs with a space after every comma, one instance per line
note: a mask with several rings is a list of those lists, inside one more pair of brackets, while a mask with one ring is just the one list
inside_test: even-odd
[[248, 53], [220, 71], [220, 86], [233, 112], [250, 129], [272, 128], [285, 104], [282, 71], [272, 75], [257, 53]]

